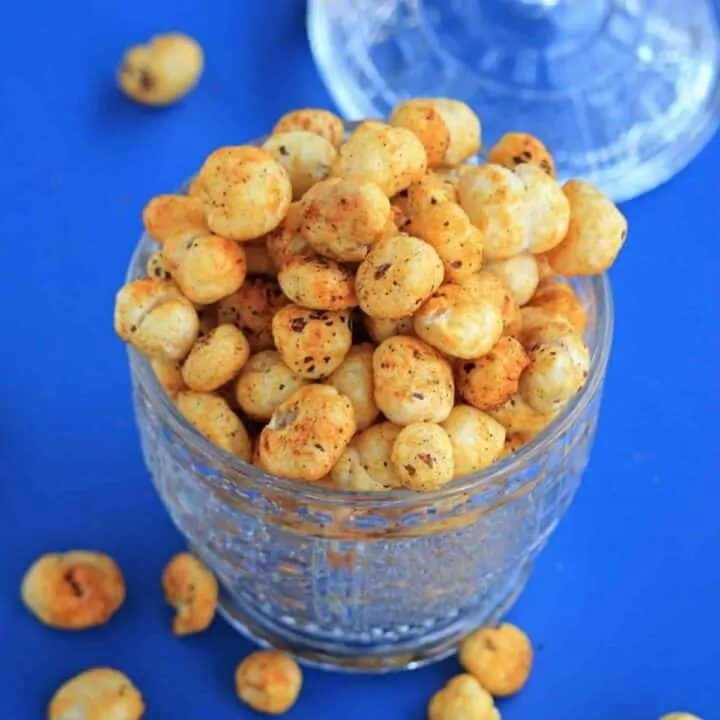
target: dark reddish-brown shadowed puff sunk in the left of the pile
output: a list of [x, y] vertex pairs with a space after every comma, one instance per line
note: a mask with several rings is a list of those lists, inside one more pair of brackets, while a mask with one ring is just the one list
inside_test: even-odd
[[272, 319], [288, 300], [280, 286], [268, 278], [247, 278], [242, 287], [218, 302], [219, 323], [232, 323], [250, 343], [252, 352], [273, 346]]

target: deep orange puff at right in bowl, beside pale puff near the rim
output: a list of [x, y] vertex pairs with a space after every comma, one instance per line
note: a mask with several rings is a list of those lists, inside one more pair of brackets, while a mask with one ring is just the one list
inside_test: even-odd
[[523, 346], [502, 337], [483, 357], [459, 361], [455, 383], [465, 402], [479, 410], [494, 410], [518, 391], [520, 375], [530, 360]]

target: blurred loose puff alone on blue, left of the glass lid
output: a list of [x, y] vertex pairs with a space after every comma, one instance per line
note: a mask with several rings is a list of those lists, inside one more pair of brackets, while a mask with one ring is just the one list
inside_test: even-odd
[[203, 64], [196, 40], [183, 33], [165, 33], [127, 50], [117, 81], [126, 95], [143, 105], [170, 105], [197, 85]]

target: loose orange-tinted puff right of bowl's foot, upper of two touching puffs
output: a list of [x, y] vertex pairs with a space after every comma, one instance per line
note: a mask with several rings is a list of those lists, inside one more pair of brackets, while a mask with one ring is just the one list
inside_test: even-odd
[[479, 628], [460, 644], [460, 664], [495, 697], [520, 690], [528, 678], [533, 649], [528, 636], [510, 623]]

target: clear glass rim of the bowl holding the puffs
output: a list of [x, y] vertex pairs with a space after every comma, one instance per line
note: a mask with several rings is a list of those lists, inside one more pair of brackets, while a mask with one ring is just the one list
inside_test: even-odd
[[[357, 124], [359, 123], [348, 122], [346, 127], [352, 128]], [[261, 145], [266, 137], [247, 144]], [[181, 192], [184, 192], [186, 188], [187, 183], [183, 185]], [[125, 277], [126, 283], [146, 274], [143, 256], [151, 243], [155, 243], [155, 241], [147, 233], [143, 233], [130, 259]], [[531, 463], [565, 434], [601, 390], [612, 347], [614, 324], [612, 288], [606, 273], [585, 276], [584, 279], [589, 281], [595, 298], [596, 328], [595, 342], [590, 356], [590, 372], [583, 388], [565, 405], [558, 416], [546, 428], [528, 443], [521, 446], [519, 450], [510, 453], [484, 470], [452, 480], [447, 485], [431, 492], [419, 493], [404, 489], [376, 493], [352, 492], [269, 475], [254, 465], [219, 448], [196, 430], [181, 415], [175, 403], [160, 385], [150, 360], [128, 345], [130, 367], [135, 378], [146, 391], [155, 410], [160, 411], [162, 416], [170, 423], [172, 430], [191, 450], [213, 458], [216, 461], [216, 466], [221, 464], [222, 467], [226, 467], [234, 474], [242, 476], [255, 490], [261, 493], [272, 492], [296, 502], [312, 501], [329, 507], [348, 507], [348, 504], [352, 503], [353, 506], [361, 507], [365, 511], [372, 511], [375, 508], [382, 511], [391, 507], [424, 506], [449, 497], [490, 487], [498, 480], [520, 472], [525, 465]], [[205, 481], [218, 492], [227, 492], [227, 485], [222, 484], [214, 473], [205, 478]], [[526, 483], [530, 482], [532, 482], [532, 478], [526, 481]], [[518, 486], [514, 487], [515, 492], [518, 489]]]

